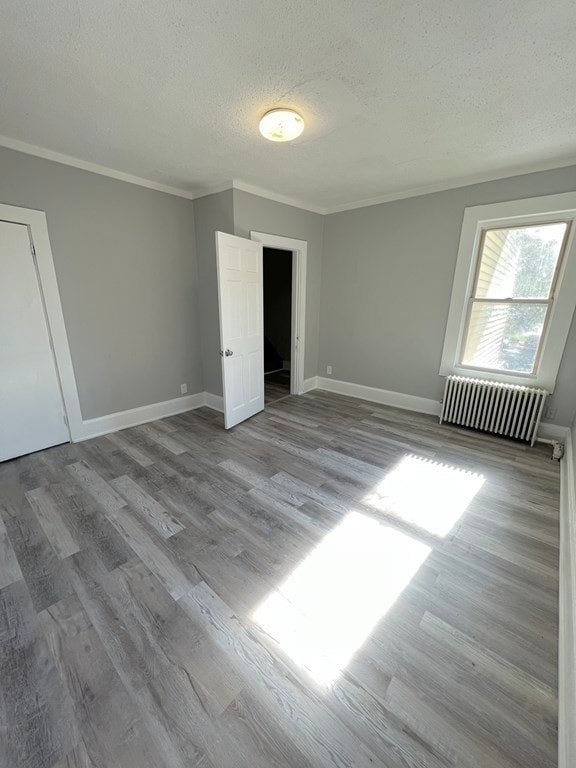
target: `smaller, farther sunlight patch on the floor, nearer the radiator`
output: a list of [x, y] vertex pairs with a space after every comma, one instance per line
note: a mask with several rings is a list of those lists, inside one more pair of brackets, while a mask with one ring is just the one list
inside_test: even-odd
[[483, 483], [482, 475], [420, 456], [405, 456], [363, 501], [445, 536]]

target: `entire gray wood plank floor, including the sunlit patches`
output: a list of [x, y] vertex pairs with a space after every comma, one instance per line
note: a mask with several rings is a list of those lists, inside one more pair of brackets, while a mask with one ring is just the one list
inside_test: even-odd
[[0, 465], [0, 768], [553, 768], [559, 467], [316, 391]]

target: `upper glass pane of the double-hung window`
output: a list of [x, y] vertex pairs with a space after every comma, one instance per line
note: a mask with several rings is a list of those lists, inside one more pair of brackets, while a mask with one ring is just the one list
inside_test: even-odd
[[474, 296], [547, 299], [567, 224], [488, 229]]

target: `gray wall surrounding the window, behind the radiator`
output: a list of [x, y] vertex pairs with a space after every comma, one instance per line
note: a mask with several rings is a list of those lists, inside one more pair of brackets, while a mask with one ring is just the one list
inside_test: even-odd
[[[439, 400], [464, 208], [574, 190], [570, 167], [326, 216], [319, 374]], [[551, 405], [571, 424], [576, 321]]]

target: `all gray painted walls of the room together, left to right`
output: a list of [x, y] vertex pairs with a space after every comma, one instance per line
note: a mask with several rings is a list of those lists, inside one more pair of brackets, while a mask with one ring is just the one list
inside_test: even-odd
[[[323, 217], [239, 190], [192, 203], [0, 148], [0, 201], [47, 214], [84, 418], [178, 397], [183, 382], [222, 393], [216, 230], [308, 242], [306, 378], [332, 365], [438, 400], [464, 208], [574, 189], [570, 167]], [[551, 404], [571, 424], [576, 321]]]

